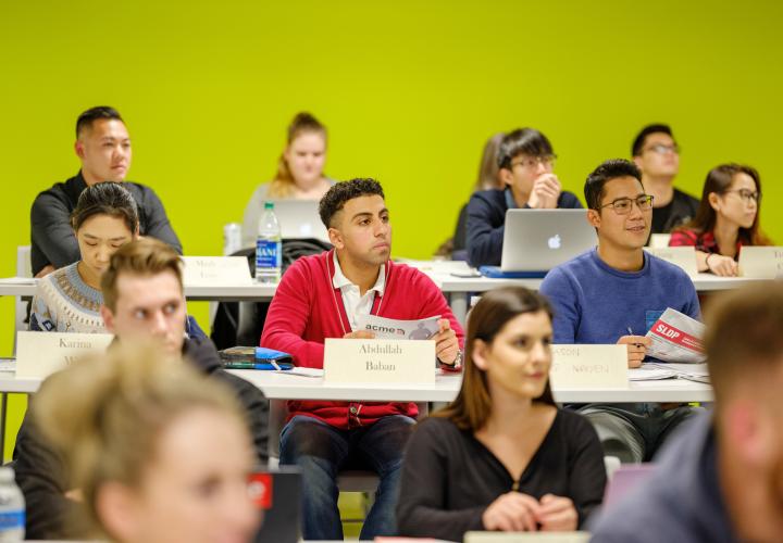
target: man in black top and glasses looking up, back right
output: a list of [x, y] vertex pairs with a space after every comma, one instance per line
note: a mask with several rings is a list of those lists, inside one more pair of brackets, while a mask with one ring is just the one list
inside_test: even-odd
[[631, 147], [642, 182], [652, 197], [652, 233], [669, 233], [696, 216], [698, 200], [673, 186], [680, 172], [680, 146], [669, 125], [648, 125]]

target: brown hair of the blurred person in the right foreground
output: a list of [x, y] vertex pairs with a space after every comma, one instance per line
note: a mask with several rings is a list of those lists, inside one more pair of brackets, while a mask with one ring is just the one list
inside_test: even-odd
[[719, 298], [704, 345], [717, 404], [737, 382], [783, 364], [783, 283], [763, 281]]

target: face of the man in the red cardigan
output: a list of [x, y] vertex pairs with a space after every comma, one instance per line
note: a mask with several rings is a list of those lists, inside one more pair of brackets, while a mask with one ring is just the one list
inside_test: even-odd
[[348, 200], [334, 216], [332, 244], [353, 262], [380, 266], [391, 254], [391, 225], [383, 198], [377, 194]]

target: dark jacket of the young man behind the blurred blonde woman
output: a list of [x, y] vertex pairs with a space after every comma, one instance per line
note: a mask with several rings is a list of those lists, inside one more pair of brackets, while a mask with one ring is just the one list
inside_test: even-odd
[[[263, 393], [245, 379], [225, 371], [211, 341], [188, 339], [183, 355], [198, 369], [225, 382], [245, 407], [256, 453], [260, 464], [266, 464], [269, 402]], [[35, 407], [35, 401], [32, 407]], [[78, 536], [67, 525], [75, 517], [78, 505], [65, 497], [70, 484], [62, 457], [42, 439], [27, 411], [16, 435], [13, 452], [16, 484], [25, 497], [27, 539], [64, 539]]]

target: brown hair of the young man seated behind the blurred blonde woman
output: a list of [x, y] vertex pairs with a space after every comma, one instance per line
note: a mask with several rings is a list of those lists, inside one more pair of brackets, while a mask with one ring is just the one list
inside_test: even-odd
[[109, 267], [101, 277], [103, 305], [116, 310], [117, 277], [121, 274], [158, 275], [171, 270], [183, 285], [182, 261], [166, 243], [154, 238], [141, 238], [126, 243], [111, 256]]

